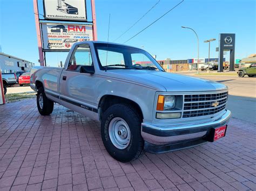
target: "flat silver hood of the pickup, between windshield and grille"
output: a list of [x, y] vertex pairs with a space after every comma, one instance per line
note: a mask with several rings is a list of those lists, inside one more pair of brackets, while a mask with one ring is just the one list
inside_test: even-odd
[[109, 70], [108, 72], [115, 73], [119, 77], [123, 76], [123, 79], [141, 84], [150, 81], [153, 84], [158, 84], [159, 89], [163, 89], [164, 87], [166, 91], [216, 91], [227, 89], [222, 83], [154, 70], [117, 69]]

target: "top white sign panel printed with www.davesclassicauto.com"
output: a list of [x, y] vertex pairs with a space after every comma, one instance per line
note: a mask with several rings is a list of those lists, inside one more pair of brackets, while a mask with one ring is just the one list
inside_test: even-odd
[[44, 16], [54, 20], [86, 21], [85, 0], [44, 0]]

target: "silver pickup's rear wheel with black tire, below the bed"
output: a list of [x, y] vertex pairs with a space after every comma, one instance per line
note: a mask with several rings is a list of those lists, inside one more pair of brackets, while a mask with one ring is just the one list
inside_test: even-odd
[[44, 88], [37, 90], [37, 109], [41, 115], [50, 115], [53, 110], [53, 101], [49, 100], [45, 93]]

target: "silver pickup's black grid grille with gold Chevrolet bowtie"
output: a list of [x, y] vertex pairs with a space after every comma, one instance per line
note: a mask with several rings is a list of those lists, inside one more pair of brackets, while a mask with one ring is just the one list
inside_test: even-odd
[[227, 91], [218, 94], [184, 95], [183, 118], [216, 114], [224, 110]]

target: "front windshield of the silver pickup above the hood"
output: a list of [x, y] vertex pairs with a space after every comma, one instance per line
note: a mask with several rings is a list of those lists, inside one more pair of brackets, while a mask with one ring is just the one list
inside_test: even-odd
[[146, 69], [163, 68], [153, 57], [142, 49], [122, 45], [95, 43], [100, 69]]

